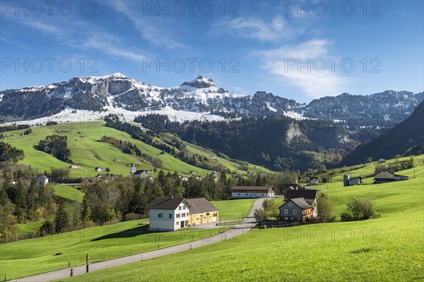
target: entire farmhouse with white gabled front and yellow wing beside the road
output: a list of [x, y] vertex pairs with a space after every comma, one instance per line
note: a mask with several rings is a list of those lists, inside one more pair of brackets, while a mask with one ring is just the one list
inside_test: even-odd
[[151, 231], [175, 231], [218, 221], [218, 208], [204, 198], [156, 197], [147, 208]]

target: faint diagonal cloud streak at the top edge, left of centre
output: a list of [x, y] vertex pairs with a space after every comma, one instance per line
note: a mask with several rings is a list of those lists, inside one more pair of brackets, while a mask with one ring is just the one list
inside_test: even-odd
[[[109, 1], [107, 2], [116, 11], [126, 16], [131, 23], [136, 27], [141, 36], [148, 42], [158, 46], [164, 46], [170, 49], [184, 49], [185, 44], [182, 44], [175, 39], [176, 29], [175, 23], [172, 23], [170, 17], [153, 17], [153, 16], [141, 16], [137, 13], [138, 7], [133, 6], [134, 2], [131, 1]], [[179, 20], [182, 20], [179, 18]]]

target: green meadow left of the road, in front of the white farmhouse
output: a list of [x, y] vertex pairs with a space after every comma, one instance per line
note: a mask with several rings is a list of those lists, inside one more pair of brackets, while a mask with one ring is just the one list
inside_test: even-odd
[[[19, 278], [64, 269], [90, 262], [135, 255], [182, 243], [201, 240], [228, 228], [215, 228], [207, 233], [201, 228], [181, 229], [170, 233], [145, 233], [148, 219], [125, 221], [109, 226], [95, 226], [79, 231], [20, 240], [0, 245], [0, 276]], [[60, 252], [61, 255], [56, 255]]]

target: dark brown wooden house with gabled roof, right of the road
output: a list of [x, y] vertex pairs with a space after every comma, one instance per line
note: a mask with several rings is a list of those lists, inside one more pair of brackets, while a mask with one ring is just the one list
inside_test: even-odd
[[313, 207], [304, 198], [287, 200], [280, 209], [279, 219], [283, 221], [304, 221], [314, 217]]

